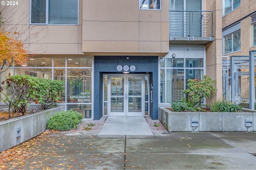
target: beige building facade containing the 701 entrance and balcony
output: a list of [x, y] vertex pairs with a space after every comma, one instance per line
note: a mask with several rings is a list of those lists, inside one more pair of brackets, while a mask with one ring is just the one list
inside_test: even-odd
[[217, 80], [211, 100], [222, 97], [221, 0], [28, 0], [0, 9], [2, 27], [20, 32], [32, 55], [1, 81], [63, 80], [58, 104], [84, 118], [158, 119], [159, 106], [203, 75]]

